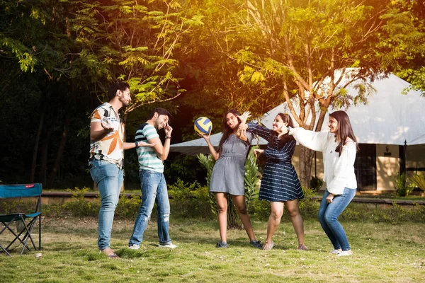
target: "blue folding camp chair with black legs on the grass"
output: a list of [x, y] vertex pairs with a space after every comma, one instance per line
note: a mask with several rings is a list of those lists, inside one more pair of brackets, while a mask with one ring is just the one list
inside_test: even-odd
[[[18, 241], [18, 246], [22, 245], [21, 255], [23, 250], [30, 248], [27, 245], [28, 239], [33, 244], [35, 250], [41, 250], [41, 184], [26, 184], [26, 185], [0, 185], [0, 203], [4, 201], [3, 199], [7, 198], [23, 198], [23, 197], [35, 197], [36, 204], [35, 209], [28, 214], [22, 212], [15, 212], [12, 214], [0, 214], [0, 223], [3, 224], [1, 229], [0, 225], [0, 238], [1, 234], [10, 231], [14, 238], [11, 243], [4, 248], [0, 244], [0, 252], [3, 250], [7, 255], [11, 256], [9, 253], [13, 243]], [[28, 223], [26, 221], [28, 219]], [[38, 248], [36, 248], [33, 241], [33, 232], [35, 223], [38, 221]], [[21, 226], [21, 231], [13, 231], [13, 226], [11, 224], [16, 223], [17, 226]]]

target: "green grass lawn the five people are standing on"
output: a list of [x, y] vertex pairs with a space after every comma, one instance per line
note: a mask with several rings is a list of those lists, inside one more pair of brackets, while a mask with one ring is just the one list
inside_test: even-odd
[[[133, 221], [117, 219], [112, 248], [120, 259], [99, 254], [93, 218], [45, 218], [42, 258], [35, 252], [0, 253], [0, 282], [424, 282], [425, 224], [344, 222], [354, 254], [329, 254], [331, 243], [317, 221], [305, 221], [307, 252], [295, 250], [290, 223], [280, 224], [273, 250], [251, 248], [244, 231], [228, 232], [228, 249], [217, 249], [216, 221], [171, 218], [175, 250], [157, 248], [157, 224], [140, 250], [129, 250]], [[266, 223], [254, 222], [257, 239]], [[3, 239], [3, 238], [2, 238]], [[1, 240], [0, 243], [3, 243]]]

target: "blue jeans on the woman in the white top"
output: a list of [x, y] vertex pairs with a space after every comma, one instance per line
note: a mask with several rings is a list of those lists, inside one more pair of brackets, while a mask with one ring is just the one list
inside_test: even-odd
[[322, 225], [324, 233], [327, 234], [329, 240], [336, 250], [350, 250], [348, 239], [344, 228], [338, 222], [338, 217], [348, 207], [348, 204], [353, 200], [356, 195], [356, 189], [344, 188], [342, 195], [336, 195], [330, 204], [327, 203], [326, 198], [329, 192], [324, 192], [322, 202], [319, 208], [319, 222]]

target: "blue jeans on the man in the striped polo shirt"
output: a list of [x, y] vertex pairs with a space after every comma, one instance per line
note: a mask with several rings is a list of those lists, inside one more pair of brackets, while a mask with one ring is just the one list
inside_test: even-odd
[[151, 170], [142, 170], [140, 175], [140, 189], [142, 190], [142, 205], [136, 217], [135, 228], [130, 237], [129, 246], [140, 245], [143, 233], [149, 222], [154, 203], [157, 203], [157, 223], [159, 243], [171, 243], [169, 236], [170, 202], [163, 173]]

